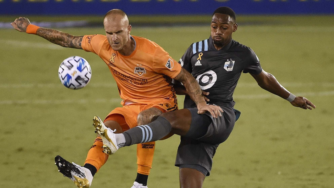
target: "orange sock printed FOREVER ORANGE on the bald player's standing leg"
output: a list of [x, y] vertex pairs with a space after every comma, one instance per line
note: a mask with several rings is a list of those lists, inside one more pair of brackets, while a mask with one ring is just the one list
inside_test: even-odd
[[137, 172], [149, 175], [152, 168], [155, 142], [137, 144]]

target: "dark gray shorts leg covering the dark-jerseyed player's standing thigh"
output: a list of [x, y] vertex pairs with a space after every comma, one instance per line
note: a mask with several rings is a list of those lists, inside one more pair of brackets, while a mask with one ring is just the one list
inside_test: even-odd
[[212, 158], [216, 153], [218, 144], [212, 145], [196, 139], [181, 136], [180, 145], [177, 150], [175, 166], [192, 168], [209, 176], [212, 168]]

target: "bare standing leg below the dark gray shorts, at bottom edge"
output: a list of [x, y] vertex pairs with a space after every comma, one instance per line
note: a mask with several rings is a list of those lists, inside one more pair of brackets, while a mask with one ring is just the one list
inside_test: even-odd
[[179, 169], [180, 188], [202, 188], [205, 175], [194, 168]]

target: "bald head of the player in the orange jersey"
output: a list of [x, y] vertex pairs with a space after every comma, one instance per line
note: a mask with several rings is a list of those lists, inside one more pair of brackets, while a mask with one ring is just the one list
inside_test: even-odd
[[109, 44], [115, 51], [122, 50], [124, 45], [131, 40], [128, 16], [120, 9], [107, 12], [103, 24]]

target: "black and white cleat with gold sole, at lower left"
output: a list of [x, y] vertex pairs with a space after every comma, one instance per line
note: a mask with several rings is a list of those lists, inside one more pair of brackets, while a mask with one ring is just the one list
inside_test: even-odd
[[58, 172], [71, 179], [77, 187], [89, 188], [92, 185], [93, 176], [89, 169], [70, 163], [58, 155], [54, 158], [54, 162]]

